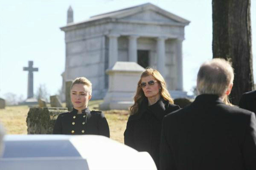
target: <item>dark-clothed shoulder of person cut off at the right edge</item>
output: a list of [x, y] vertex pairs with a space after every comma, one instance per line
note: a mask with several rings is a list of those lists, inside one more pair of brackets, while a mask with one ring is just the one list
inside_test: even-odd
[[249, 91], [241, 96], [239, 107], [256, 113], [256, 91]]

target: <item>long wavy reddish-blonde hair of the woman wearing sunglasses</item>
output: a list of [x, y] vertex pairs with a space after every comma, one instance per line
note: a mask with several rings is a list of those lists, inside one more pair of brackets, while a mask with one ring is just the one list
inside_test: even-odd
[[141, 78], [142, 77], [147, 77], [147, 76], [152, 76], [154, 77], [157, 82], [160, 84], [160, 96], [163, 97], [163, 99], [169, 101], [171, 104], [174, 104], [172, 97], [170, 96], [167, 88], [166, 88], [166, 82], [163, 79], [163, 76], [154, 68], [146, 68], [145, 71], [142, 72], [140, 76], [140, 80], [137, 84], [137, 91], [134, 96], [134, 105], [132, 105], [129, 110], [130, 114], [133, 115], [138, 112], [140, 104], [143, 102], [144, 99], [147, 99], [146, 96], [144, 95], [144, 92], [142, 88], [140, 87], [141, 83]]

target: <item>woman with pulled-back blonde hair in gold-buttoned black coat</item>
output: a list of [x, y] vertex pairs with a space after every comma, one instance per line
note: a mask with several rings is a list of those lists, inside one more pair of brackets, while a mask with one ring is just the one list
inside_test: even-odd
[[102, 135], [109, 137], [108, 122], [101, 111], [87, 108], [91, 99], [92, 83], [85, 77], [76, 78], [70, 90], [73, 111], [58, 116], [53, 134]]

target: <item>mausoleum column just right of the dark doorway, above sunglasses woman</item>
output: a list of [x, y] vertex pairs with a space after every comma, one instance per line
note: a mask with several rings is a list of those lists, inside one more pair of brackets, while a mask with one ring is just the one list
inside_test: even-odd
[[157, 37], [157, 70], [165, 77], [165, 40], [166, 37]]

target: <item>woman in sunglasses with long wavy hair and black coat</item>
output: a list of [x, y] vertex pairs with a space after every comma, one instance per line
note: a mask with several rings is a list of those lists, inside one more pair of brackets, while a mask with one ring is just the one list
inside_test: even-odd
[[178, 109], [180, 107], [173, 104], [161, 74], [147, 68], [141, 74], [134, 105], [130, 107], [131, 115], [124, 133], [125, 144], [148, 152], [158, 167], [163, 117]]

